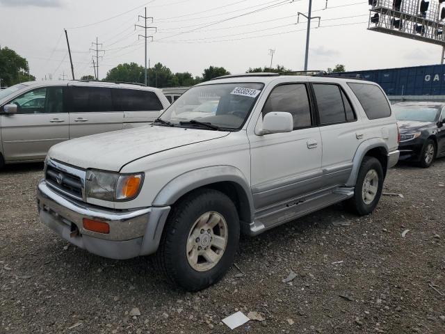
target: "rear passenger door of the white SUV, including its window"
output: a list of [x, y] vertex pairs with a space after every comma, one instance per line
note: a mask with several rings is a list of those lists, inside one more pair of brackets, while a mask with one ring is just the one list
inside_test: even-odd
[[337, 84], [312, 84], [323, 142], [323, 186], [345, 184], [364, 136], [350, 100]]

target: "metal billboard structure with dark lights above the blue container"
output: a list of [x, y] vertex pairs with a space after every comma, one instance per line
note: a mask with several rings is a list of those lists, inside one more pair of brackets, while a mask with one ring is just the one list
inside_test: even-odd
[[445, 0], [369, 0], [368, 29], [442, 46], [445, 50]]

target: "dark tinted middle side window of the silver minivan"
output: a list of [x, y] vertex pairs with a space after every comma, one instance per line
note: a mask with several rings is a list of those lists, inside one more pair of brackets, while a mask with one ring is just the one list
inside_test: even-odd
[[72, 87], [72, 112], [94, 113], [114, 111], [111, 88]]

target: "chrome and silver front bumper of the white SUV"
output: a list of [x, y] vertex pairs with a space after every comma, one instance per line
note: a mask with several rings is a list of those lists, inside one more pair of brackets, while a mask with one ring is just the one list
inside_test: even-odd
[[[170, 207], [117, 211], [88, 205], [56, 192], [42, 180], [37, 189], [42, 222], [63, 239], [90, 253], [112, 259], [129, 259], [156, 252]], [[104, 221], [108, 234], [83, 228], [83, 218]], [[76, 232], [78, 233], [72, 233]]]

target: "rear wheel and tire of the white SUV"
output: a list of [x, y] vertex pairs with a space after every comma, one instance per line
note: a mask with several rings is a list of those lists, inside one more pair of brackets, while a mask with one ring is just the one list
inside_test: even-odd
[[[370, 177], [373, 180], [371, 183]], [[364, 157], [357, 175], [354, 196], [347, 202], [348, 207], [359, 216], [371, 214], [382, 196], [383, 180], [383, 168], [380, 161], [374, 157]]]

